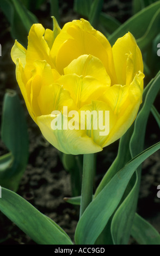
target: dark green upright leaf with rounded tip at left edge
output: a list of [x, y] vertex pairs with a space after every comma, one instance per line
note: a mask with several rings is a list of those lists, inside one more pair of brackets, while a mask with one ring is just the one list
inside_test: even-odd
[[4, 96], [1, 136], [10, 153], [0, 157], [0, 184], [16, 191], [28, 162], [28, 133], [21, 102], [13, 90]]

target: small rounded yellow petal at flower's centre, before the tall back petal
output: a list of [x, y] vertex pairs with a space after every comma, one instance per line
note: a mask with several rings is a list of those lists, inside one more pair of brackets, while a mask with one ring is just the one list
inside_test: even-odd
[[79, 56], [64, 69], [64, 74], [76, 74], [78, 76], [91, 76], [101, 83], [110, 86], [110, 77], [100, 59], [89, 55]]

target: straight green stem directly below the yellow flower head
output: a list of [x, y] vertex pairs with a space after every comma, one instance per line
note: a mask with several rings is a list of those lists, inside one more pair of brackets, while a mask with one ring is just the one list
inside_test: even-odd
[[86, 154], [83, 156], [82, 193], [79, 217], [82, 216], [93, 198], [94, 162], [94, 154]]

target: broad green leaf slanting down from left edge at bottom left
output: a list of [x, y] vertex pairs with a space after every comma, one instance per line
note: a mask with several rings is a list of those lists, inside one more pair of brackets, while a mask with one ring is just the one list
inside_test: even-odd
[[72, 245], [69, 236], [54, 221], [41, 214], [18, 194], [3, 187], [0, 210], [36, 243]]

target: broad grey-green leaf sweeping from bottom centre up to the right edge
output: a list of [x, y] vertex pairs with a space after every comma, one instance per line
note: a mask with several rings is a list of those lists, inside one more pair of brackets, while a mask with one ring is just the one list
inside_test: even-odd
[[134, 171], [147, 157], [160, 149], [160, 142], [134, 157], [103, 188], [88, 205], [80, 218], [75, 241], [77, 244], [93, 245], [118, 206]]

